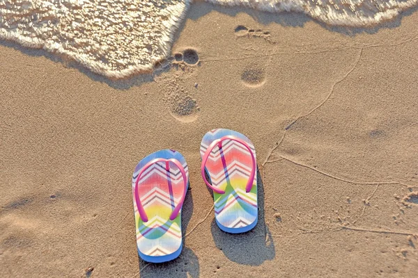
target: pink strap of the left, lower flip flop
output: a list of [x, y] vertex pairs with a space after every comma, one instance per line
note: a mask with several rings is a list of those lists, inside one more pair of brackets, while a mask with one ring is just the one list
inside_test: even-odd
[[181, 197], [180, 202], [177, 204], [177, 206], [174, 208], [173, 212], [171, 213], [170, 220], [176, 219], [176, 217], [178, 215], [178, 212], [180, 211], [181, 207], [183, 206], [183, 202], [185, 201], [185, 197], [186, 197], [186, 193], [187, 193], [187, 177], [186, 177], [186, 172], [185, 172], [185, 168], [183, 168], [183, 165], [181, 165], [180, 161], [178, 161], [177, 159], [174, 159], [174, 158], [171, 158], [171, 159], [155, 158], [153, 161], [150, 161], [150, 162], [146, 163], [146, 165], [142, 168], [141, 172], [139, 172], [137, 182], [135, 183], [135, 188], [134, 188], [135, 202], [137, 203], [139, 216], [141, 216], [141, 219], [142, 219], [143, 222], [148, 221], [148, 216], [146, 216], [144, 207], [141, 204], [141, 199], [139, 199], [139, 193], [138, 193], [139, 179], [141, 179], [141, 174], [144, 174], [145, 170], [147, 170], [154, 163], [157, 163], [157, 162], [160, 162], [160, 161], [164, 161], [166, 163], [166, 170], [167, 171], [170, 170], [170, 168], [169, 168], [169, 162], [170, 161], [172, 163], [176, 164], [176, 166], [178, 167], [178, 170], [180, 170], [180, 172], [181, 172], [181, 175], [183, 177], [183, 181], [185, 183], [185, 190], [184, 190], [183, 196]]

